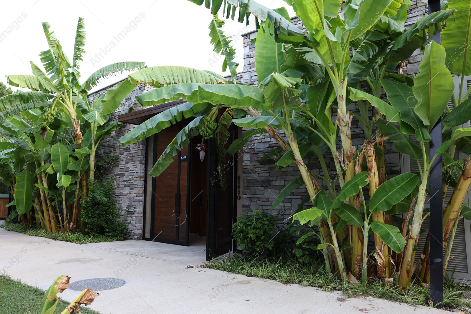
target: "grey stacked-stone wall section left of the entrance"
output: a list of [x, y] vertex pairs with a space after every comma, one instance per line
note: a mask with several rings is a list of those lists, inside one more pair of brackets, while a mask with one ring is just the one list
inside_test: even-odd
[[[108, 89], [114, 89], [116, 84], [100, 89], [89, 95], [90, 103]], [[127, 113], [134, 105], [134, 110], [142, 109], [136, 100], [136, 95], [152, 89], [149, 86], [137, 86], [121, 103], [121, 106], [111, 113], [110, 122], [118, 121], [118, 116]], [[118, 159], [106, 161], [96, 176], [106, 182], [111, 176], [114, 177], [114, 196], [118, 207], [121, 209], [122, 217], [129, 223], [128, 238], [131, 240], [141, 240], [143, 230], [144, 212], [144, 178], [146, 161], [146, 141], [139, 141], [134, 144], [122, 146], [118, 139], [135, 128], [132, 124], [123, 124], [121, 129], [114, 131], [106, 137], [98, 146], [96, 161], [100, 161], [114, 155], [119, 155]]]

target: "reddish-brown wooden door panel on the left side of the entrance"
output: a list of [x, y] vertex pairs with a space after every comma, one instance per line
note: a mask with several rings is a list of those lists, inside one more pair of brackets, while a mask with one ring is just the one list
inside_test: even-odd
[[[154, 155], [158, 159], [181, 127], [163, 129], [155, 137]], [[154, 241], [188, 245], [188, 149], [178, 152], [173, 162], [154, 180]]]

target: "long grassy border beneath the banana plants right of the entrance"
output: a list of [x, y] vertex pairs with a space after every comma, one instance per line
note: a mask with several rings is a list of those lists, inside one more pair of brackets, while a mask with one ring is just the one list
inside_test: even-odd
[[[404, 294], [400, 294], [398, 286], [394, 282], [385, 285], [377, 279], [372, 279], [366, 284], [342, 283], [333, 276], [325, 274], [324, 266], [320, 261], [307, 264], [288, 257], [262, 259], [249, 255], [234, 255], [213, 259], [207, 263], [207, 267], [235, 274], [272, 279], [285, 284], [297, 283], [303, 286], [322, 288], [325, 291], [342, 291], [348, 298], [374, 296], [412, 305], [432, 306], [430, 287], [426, 285], [412, 282]], [[448, 309], [468, 310], [471, 304], [464, 298], [465, 294], [470, 291], [471, 287], [467, 284], [447, 278], [445, 280], [444, 306]]]

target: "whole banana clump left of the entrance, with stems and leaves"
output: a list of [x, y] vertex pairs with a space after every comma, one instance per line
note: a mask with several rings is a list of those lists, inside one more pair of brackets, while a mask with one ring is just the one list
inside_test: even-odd
[[[31, 91], [17, 91], [0, 98], [0, 132], [13, 142], [15, 157], [13, 169], [9, 158], [1, 159], [0, 176], [9, 178], [15, 191], [16, 213], [23, 220], [34, 205], [37, 223], [41, 222], [48, 231], [70, 230], [79, 225], [78, 192], [81, 188], [82, 197], [87, 195], [84, 183], [87, 175], [94, 178], [97, 146], [119, 128], [117, 122], [106, 124], [109, 115], [134, 87], [129, 80], [119, 82], [94, 104], [89, 103], [88, 91], [101, 80], [145, 65], [142, 62], [106, 65], [81, 84], [79, 61], [85, 53], [83, 18], [77, 23], [72, 62], [50, 25], [42, 23], [42, 28], [49, 46], [40, 54], [43, 69], [31, 62], [32, 75], [7, 75], [8, 84]], [[62, 212], [58, 212], [59, 203]]]

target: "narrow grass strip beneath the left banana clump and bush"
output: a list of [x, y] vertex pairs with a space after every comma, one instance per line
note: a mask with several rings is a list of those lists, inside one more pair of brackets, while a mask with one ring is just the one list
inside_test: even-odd
[[25, 233], [32, 236], [45, 237], [48, 239], [72, 242], [77, 244], [87, 244], [87, 243], [97, 243], [97, 242], [113, 242], [113, 241], [122, 241], [121, 237], [109, 237], [102, 234], [83, 234], [78, 231], [67, 231], [65, 233], [57, 232], [47, 232], [44, 229], [31, 228], [27, 225], [23, 226], [20, 224], [5, 223], [1, 225], [2, 228], [15, 231], [19, 233]]

